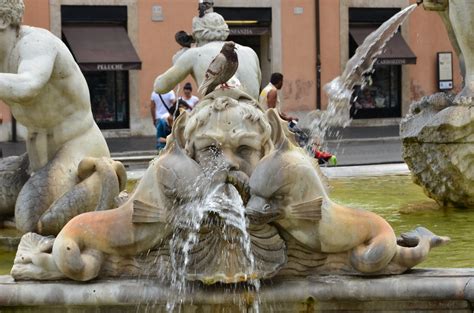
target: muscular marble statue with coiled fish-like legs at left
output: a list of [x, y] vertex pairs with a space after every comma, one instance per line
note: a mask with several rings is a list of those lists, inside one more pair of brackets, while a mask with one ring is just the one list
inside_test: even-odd
[[21, 25], [22, 0], [0, 6], [0, 100], [28, 131], [28, 159], [16, 160], [17, 175], [10, 175], [15, 162], [0, 160], [0, 216], [14, 214], [24, 233], [56, 235], [72, 216], [110, 208], [120, 190], [108, 178], [123, 181], [125, 171], [111, 160], [104, 166], [109, 150], [66, 45], [46, 29]]

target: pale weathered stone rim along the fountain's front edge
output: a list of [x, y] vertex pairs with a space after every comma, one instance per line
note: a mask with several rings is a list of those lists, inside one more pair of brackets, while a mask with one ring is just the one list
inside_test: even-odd
[[[310, 302], [360, 305], [364, 302], [405, 303], [415, 309], [432, 302], [438, 308], [457, 305], [469, 308], [474, 300], [473, 269], [417, 269], [385, 277], [313, 276], [299, 279], [264, 281], [256, 295], [240, 287], [226, 292], [222, 286], [195, 284], [184, 303], [193, 305], [232, 304], [258, 297], [265, 304], [302, 304]], [[0, 276], [0, 307], [12, 306], [133, 306], [163, 305], [174, 293], [151, 279], [99, 280], [88, 283], [71, 281], [14, 282]]]

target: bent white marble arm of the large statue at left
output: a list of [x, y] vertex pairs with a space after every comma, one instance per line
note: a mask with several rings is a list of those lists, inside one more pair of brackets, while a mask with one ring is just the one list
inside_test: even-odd
[[0, 99], [14, 103], [28, 103], [48, 83], [53, 72], [57, 50], [50, 41], [38, 38], [19, 43], [17, 73], [0, 73]]

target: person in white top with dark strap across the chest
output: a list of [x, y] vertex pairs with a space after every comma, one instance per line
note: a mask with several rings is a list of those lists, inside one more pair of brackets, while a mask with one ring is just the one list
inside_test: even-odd
[[[160, 144], [161, 134], [158, 134], [158, 126], [161, 120], [166, 120], [168, 116], [173, 115], [172, 110], [174, 109], [175, 103], [176, 96], [173, 90], [165, 94], [158, 94], [154, 91], [151, 93], [150, 113], [153, 119], [153, 125], [156, 127], [156, 148], [158, 150], [164, 146]], [[163, 122], [166, 123], [167, 121]], [[163, 122], [161, 124], [163, 124]]]

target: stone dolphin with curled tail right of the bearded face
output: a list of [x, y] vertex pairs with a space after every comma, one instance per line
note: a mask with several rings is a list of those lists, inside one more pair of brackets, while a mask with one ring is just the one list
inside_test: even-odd
[[[267, 115], [279, 120], [275, 111]], [[406, 245], [415, 247], [397, 245], [392, 227], [383, 218], [331, 201], [314, 160], [286, 139], [281, 123], [271, 124], [277, 125], [273, 129], [276, 149], [260, 161], [250, 178], [250, 216], [267, 213], [311, 251], [349, 251], [348, 263], [362, 273], [382, 271], [392, 260], [404, 271], [424, 260], [431, 247], [449, 240], [417, 229], [405, 235]]]

